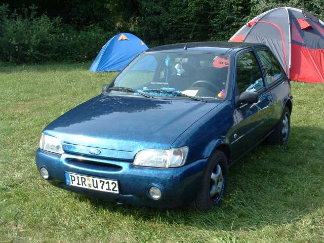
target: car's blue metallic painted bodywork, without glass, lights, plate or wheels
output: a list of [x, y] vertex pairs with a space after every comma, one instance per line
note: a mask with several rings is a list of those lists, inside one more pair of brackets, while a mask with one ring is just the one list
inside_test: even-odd
[[[267, 48], [264, 45], [193, 45], [188, 45], [186, 51], [230, 55], [232, 81], [225, 101], [204, 103], [186, 98], [150, 99], [101, 94], [66, 112], [44, 129], [44, 134], [61, 141], [64, 153], [59, 155], [37, 149], [37, 169], [45, 167], [50, 174], [49, 182], [55, 186], [118, 203], [178, 207], [192, 200], [215, 149], [227, 148], [232, 164], [272, 131], [285, 104], [292, 101], [286, 78], [272, 87], [265, 85], [257, 104], [235, 106], [235, 58], [247, 50]], [[171, 45], [147, 52], [150, 51], [185, 50]], [[132, 164], [135, 154], [142, 149], [182, 146], [189, 147], [187, 161], [182, 167], [162, 169]], [[93, 148], [100, 150], [100, 154], [91, 154]], [[120, 194], [68, 186], [66, 171], [115, 179]], [[161, 189], [160, 199], [149, 196], [149, 185]]]

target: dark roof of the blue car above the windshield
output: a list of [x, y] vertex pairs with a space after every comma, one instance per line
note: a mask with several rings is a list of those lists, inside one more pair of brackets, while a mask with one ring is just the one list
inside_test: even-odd
[[240, 43], [240, 42], [191, 42], [187, 44], [187, 50], [184, 50], [185, 43], [172, 44], [166, 46], [153, 47], [145, 52], [215, 52], [229, 53], [232, 50], [245, 49], [248, 47], [260, 47], [263, 44]]

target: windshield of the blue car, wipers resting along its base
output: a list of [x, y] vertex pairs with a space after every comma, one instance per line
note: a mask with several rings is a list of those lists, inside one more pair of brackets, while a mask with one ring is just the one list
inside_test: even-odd
[[[110, 87], [127, 87], [151, 96], [177, 97], [175, 92], [178, 92], [221, 100], [228, 89], [228, 69], [229, 56], [225, 54], [143, 53], [115, 78]], [[123, 91], [108, 89], [107, 92]]]

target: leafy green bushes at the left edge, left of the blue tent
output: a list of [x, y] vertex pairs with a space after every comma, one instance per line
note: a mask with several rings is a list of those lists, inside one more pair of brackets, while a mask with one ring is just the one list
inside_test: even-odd
[[[93, 59], [112, 36], [98, 26], [75, 30], [59, 17], [36, 16], [31, 7], [25, 14], [9, 15], [8, 5], [0, 6], [0, 61], [31, 63], [84, 61]], [[29, 13], [29, 14], [28, 14]]]

